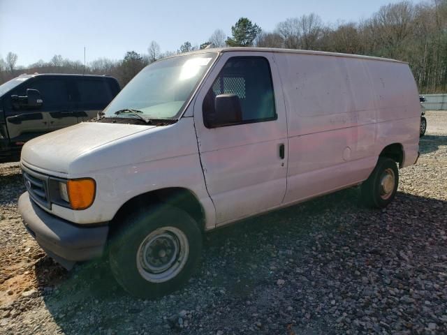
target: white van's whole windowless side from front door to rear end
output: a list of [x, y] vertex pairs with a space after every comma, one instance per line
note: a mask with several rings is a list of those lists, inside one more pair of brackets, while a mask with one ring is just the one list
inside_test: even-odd
[[292, 53], [275, 60], [288, 117], [285, 203], [358, 184], [383, 147], [415, 143], [418, 92], [406, 64]]

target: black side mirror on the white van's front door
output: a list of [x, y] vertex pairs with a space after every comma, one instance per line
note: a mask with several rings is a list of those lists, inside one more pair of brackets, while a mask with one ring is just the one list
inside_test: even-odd
[[219, 94], [214, 98], [214, 113], [207, 113], [205, 124], [217, 128], [242, 122], [242, 107], [236, 94]]

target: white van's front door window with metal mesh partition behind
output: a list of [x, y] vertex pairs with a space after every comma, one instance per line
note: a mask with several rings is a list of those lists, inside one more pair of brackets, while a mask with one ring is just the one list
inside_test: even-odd
[[205, 115], [216, 112], [214, 99], [219, 94], [235, 94], [240, 101], [242, 121], [229, 125], [277, 119], [272, 74], [264, 57], [228, 59], [203, 100], [204, 120], [207, 119]]

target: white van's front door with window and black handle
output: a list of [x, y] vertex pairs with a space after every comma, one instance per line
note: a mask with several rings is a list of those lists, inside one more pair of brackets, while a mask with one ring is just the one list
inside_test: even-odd
[[[214, 127], [207, 120], [221, 94], [237, 96], [242, 116]], [[286, 193], [286, 114], [271, 54], [223, 53], [198, 93], [194, 119], [217, 225], [281, 204]]]

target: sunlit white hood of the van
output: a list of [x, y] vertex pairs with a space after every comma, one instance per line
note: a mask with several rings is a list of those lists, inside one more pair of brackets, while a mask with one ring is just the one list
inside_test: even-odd
[[37, 168], [66, 174], [78, 156], [154, 127], [84, 122], [30, 140], [24, 144], [21, 159]]

